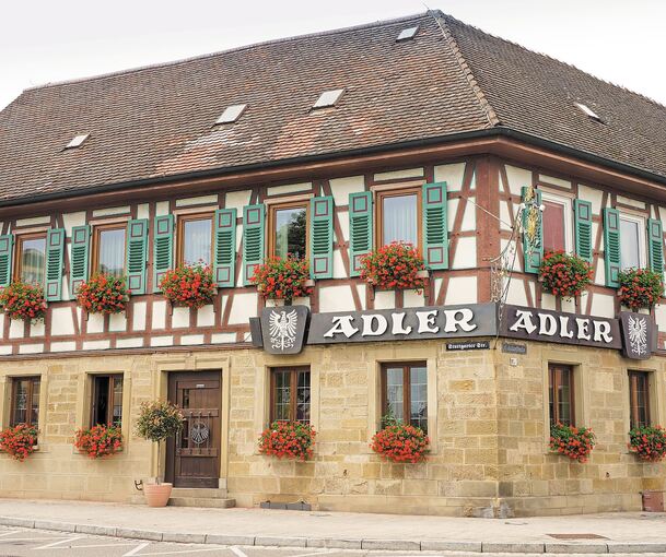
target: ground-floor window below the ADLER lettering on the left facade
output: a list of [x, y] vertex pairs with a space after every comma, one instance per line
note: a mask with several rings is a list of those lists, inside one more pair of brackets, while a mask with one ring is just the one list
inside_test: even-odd
[[424, 362], [382, 366], [382, 416], [428, 432], [428, 368]]

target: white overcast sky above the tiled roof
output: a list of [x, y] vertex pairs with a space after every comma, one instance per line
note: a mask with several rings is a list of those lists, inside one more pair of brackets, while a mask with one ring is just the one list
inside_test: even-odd
[[[427, 0], [666, 105], [662, 0]], [[422, 12], [420, 0], [4, 2], [0, 108], [26, 87]]]

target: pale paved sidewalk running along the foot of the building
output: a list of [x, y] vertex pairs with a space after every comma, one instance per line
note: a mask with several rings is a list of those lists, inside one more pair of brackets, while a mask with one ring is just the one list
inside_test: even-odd
[[[167, 542], [483, 553], [666, 553], [666, 514], [464, 519], [0, 499], [0, 524]], [[556, 538], [548, 534], [566, 534]], [[575, 538], [587, 534], [587, 538]], [[596, 536], [589, 538], [589, 534]]]

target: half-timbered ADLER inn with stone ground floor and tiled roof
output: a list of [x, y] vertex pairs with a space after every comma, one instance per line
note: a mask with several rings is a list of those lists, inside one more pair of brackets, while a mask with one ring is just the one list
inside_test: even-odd
[[[536, 251], [516, 222], [531, 189]], [[187, 417], [162, 454], [176, 503], [640, 509], [665, 487], [627, 443], [666, 423], [666, 310], [638, 313], [636, 357], [618, 272], [663, 273], [665, 222], [664, 106], [440, 12], [27, 90], [0, 112], [0, 287], [43, 285], [47, 311], [0, 315], [0, 426], [39, 437], [25, 462], [0, 453], [0, 496], [137, 500], [157, 453], [133, 423], [163, 398]], [[422, 252], [422, 292], [360, 276], [390, 241]], [[560, 249], [594, 269], [571, 300], [537, 278]], [[314, 289], [283, 351], [281, 303], [249, 280], [288, 252]], [[172, 306], [161, 277], [199, 261], [214, 303]], [[127, 277], [125, 312], [79, 307], [96, 273]], [[370, 449], [387, 412], [428, 431], [427, 462]], [[315, 427], [311, 461], [259, 454], [273, 419]], [[588, 463], [550, 452], [553, 422], [594, 429]], [[121, 453], [73, 448], [109, 423]]]

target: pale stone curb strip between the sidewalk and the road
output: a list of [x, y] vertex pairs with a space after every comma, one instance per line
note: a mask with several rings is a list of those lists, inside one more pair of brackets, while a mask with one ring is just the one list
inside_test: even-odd
[[381, 550], [441, 550], [469, 553], [513, 553], [513, 554], [664, 554], [666, 543], [622, 543], [608, 544], [566, 544], [549, 542], [451, 542], [446, 540], [428, 540], [416, 542], [409, 540], [336, 540], [320, 537], [278, 537], [243, 536], [225, 534], [189, 534], [168, 533], [154, 530], [135, 530], [96, 524], [75, 524], [48, 520], [32, 520], [0, 515], [0, 525], [35, 530], [51, 530], [67, 533], [147, 540], [151, 542], [176, 542], [190, 544], [219, 544], [272, 547], [327, 547], [339, 549], [381, 549]]

